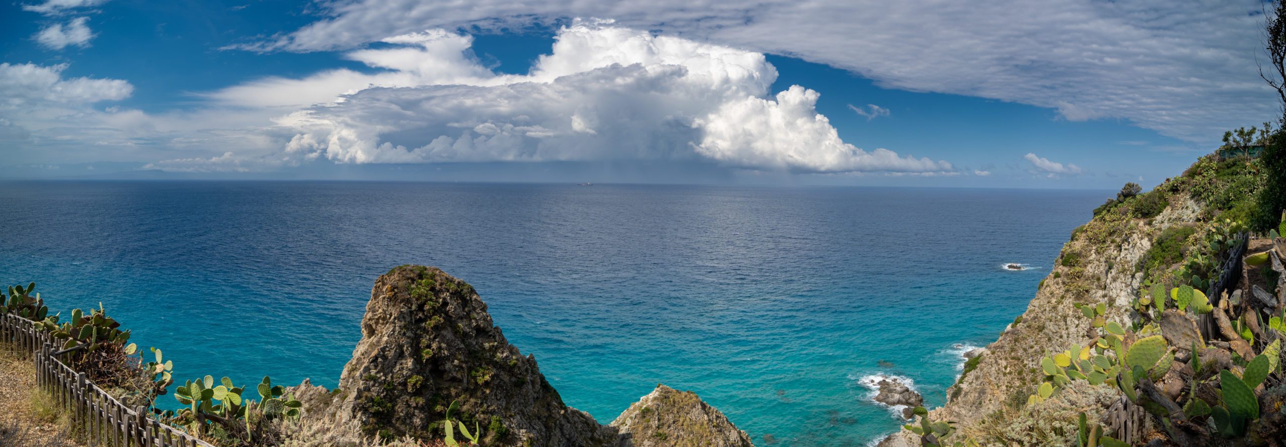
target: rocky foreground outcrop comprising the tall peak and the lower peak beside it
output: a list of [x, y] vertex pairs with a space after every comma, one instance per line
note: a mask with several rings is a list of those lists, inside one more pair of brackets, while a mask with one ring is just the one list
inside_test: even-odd
[[440, 439], [458, 402], [453, 417], [481, 426], [491, 446], [750, 446], [718, 410], [666, 387], [640, 401], [649, 411], [637, 403], [620, 424], [601, 425], [568, 407], [535, 357], [522, 356], [493, 324], [473, 288], [435, 267], [381, 276], [361, 335], [338, 389], [292, 389], [306, 414], [292, 444]]

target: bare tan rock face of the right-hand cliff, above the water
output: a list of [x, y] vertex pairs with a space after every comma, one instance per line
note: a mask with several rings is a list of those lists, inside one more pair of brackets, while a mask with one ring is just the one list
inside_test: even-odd
[[948, 403], [931, 411], [931, 420], [967, 428], [1007, 402], [1025, 402], [1042, 378], [1044, 355], [1089, 342], [1089, 321], [1075, 303], [1107, 303], [1106, 319], [1128, 326], [1129, 303], [1143, 280], [1138, 266], [1152, 239], [1170, 226], [1196, 222], [1200, 215], [1201, 207], [1183, 197], [1151, 220], [1102, 216], [1078, 229], [1021, 321], [986, 347], [977, 367], [948, 389]]

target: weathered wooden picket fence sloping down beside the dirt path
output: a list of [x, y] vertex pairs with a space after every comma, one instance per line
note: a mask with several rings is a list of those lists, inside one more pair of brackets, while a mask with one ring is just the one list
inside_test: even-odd
[[[17, 315], [0, 315], [0, 342], [15, 348], [36, 366], [36, 387], [67, 411], [72, 426], [89, 446], [104, 447], [213, 447], [149, 416], [147, 407], [126, 407], [111, 394], [62, 362], [48, 331]], [[68, 356], [68, 355], [63, 355]]]

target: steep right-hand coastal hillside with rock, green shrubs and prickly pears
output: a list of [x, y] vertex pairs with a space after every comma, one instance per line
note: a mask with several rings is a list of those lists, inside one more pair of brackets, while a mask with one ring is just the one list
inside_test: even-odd
[[[1272, 421], [1281, 420], [1286, 394], [1277, 259], [1286, 253], [1268, 253], [1283, 241], [1274, 239], [1276, 230], [1255, 235], [1245, 225], [1263, 184], [1260, 161], [1213, 154], [1152, 191], [1127, 185], [1073, 231], [1028, 308], [966, 364], [946, 403], [917, 420], [950, 421], [949, 432], [936, 432], [943, 444], [1078, 446], [1094, 424], [1128, 444], [1232, 438], [1277, 444], [1283, 433]], [[1242, 263], [1247, 256], [1256, 257]], [[1197, 308], [1201, 299], [1209, 308]], [[1236, 337], [1227, 337], [1226, 326]], [[1112, 362], [1127, 361], [1145, 338], [1163, 346], [1157, 356], [1164, 357], [1151, 358], [1156, 370], [1142, 378], [1114, 370]], [[1202, 407], [1219, 408], [1228, 393], [1211, 372], [1223, 366], [1247, 378], [1256, 356], [1272, 371], [1250, 387], [1259, 387], [1259, 419], [1229, 428], [1205, 417], [1211, 410]], [[1079, 366], [1100, 360], [1102, 367]], [[1202, 370], [1202, 362], [1214, 364]], [[1139, 396], [1160, 394], [1130, 396], [1130, 381]], [[918, 424], [882, 446], [918, 446], [921, 435], [935, 433]]]

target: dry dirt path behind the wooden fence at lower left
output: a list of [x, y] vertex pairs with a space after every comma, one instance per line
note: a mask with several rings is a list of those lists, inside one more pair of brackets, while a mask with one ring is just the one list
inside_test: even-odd
[[0, 344], [0, 447], [80, 447], [66, 435], [66, 419], [36, 390], [36, 369]]

